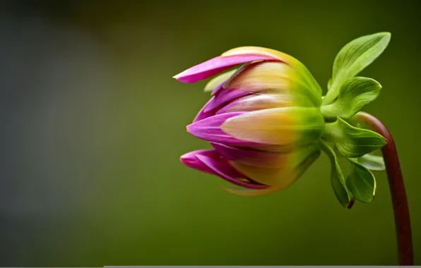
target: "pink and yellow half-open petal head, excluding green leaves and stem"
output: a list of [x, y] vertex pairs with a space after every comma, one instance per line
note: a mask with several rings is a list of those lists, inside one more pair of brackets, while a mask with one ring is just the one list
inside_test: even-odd
[[214, 75], [205, 88], [212, 97], [187, 126], [213, 149], [184, 154], [181, 162], [237, 185], [225, 189], [238, 195], [292, 185], [320, 155], [324, 117], [312, 74], [280, 51], [239, 47], [174, 78], [195, 83]]

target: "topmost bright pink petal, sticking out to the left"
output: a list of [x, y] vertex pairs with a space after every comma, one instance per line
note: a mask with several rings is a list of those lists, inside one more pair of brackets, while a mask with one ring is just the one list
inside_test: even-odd
[[209, 78], [217, 75], [237, 64], [246, 63], [249, 61], [263, 61], [263, 60], [277, 60], [273, 56], [255, 55], [255, 54], [241, 54], [232, 56], [217, 56], [213, 59], [193, 66], [186, 71], [175, 75], [174, 78], [182, 83], [195, 83], [199, 80]]

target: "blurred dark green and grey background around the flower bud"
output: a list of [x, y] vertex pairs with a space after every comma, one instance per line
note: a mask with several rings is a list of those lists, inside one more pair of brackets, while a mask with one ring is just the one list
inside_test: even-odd
[[[319, 161], [295, 185], [238, 197], [179, 163], [206, 81], [172, 76], [232, 47], [300, 59], [326, 88], [351, 39], [389, 31], [363, 75], [389, 127], [421, 264], [417, 1], [2, 1], [0, 266], [397, 264], [384, 172], [343, 209]], [[392, 3], [392, 1], [391, 1]]]

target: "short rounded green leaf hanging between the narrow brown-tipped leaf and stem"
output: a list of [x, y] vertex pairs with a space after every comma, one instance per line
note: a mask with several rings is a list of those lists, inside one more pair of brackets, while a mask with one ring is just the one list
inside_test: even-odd
[[352, 159], [349, 159], [352, 166], [346, 179], [346, 185], [354, 195], [355, 200], [369, 203], [376, 195], [376, 178], [371, 171]]

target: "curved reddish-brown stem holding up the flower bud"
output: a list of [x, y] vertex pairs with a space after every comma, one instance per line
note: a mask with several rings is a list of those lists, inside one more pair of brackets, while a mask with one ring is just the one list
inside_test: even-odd
[[386, 173], [392, 197], [396, 236], [398, 240], [399, 265], [413, 265], [413, 240], [411, 236], [408, 200], [395, 142], [393, 142], [389, 130], [387, 130], [379, 119], [364, 112], [358, 113], [357, 117], [372, 126], [377, 133], [383, 135], [388, 141], [388, 143], [381, 148], [381, 152], [384, 157], [384, 164], [386, 165]]

